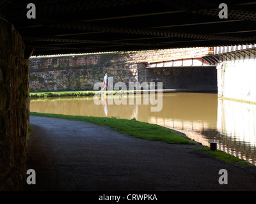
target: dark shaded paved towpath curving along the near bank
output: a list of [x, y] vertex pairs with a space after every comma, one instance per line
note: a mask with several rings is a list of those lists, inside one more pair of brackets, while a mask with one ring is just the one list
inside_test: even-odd
[[[122, 135], [88, 122], [30, 117], [25, 191], [255, 191], [254, 167], [234, 167], [190, 145]], [[220, 185], [220, 169], [228, 184]]]

